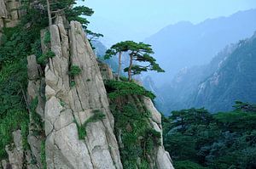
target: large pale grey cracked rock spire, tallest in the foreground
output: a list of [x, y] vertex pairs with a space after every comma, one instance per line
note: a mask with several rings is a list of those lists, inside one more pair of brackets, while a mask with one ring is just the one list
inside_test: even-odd
[[[96, 56], [79, 22], [72, 21], [70, 31], [61, 18], [51, 25], [51, 50], [55, 57], [45, 68], [45, 134], [48, 168], [122, 168], [119, 148], [113, 134], [113, 115]], [[81, 69], [68, 76], [70, 65]], [[70, 83], [75, 82], [71, 87]], [[78, 126], [94, 112], [106, 118], [86, 126], [86, 136], [79, 139]]]

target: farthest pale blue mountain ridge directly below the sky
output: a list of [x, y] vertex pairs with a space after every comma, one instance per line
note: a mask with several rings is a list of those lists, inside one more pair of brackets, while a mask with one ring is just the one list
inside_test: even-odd
[[226, 45], [250, 37], [256, 30], [255, 16], [256, 9], [251, 9], [197, 25], [179, 22], [148, 37], [145, 42], [153, 45], [155, 58], [166, 70], [153, 74], [156, 85], [171, 82], [184, 67], [207, 64]]

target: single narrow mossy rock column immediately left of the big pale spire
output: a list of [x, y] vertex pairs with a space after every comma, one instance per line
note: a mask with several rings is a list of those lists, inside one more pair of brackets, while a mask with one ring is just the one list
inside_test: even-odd
[[[41, 72], [41, 73], [40, 73]], [[28, 163], [31, 168], [43, 168], [41, 161], [41, 144], [44, 140], [44, 77], [41, 67], [37, 64], [35, 55], [27, 57], [27, 101], [30, 104], [30, 124], [27, 142], [31, 148], [33, 164]], [[28, 161], [30, 162], [30, 161]]]

